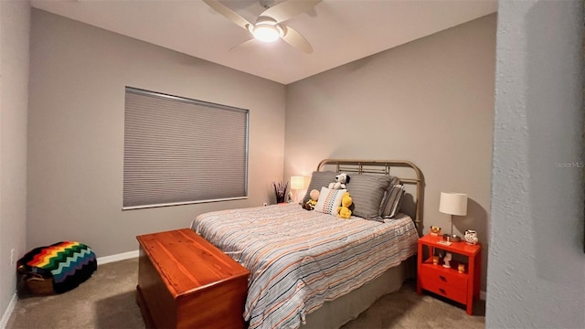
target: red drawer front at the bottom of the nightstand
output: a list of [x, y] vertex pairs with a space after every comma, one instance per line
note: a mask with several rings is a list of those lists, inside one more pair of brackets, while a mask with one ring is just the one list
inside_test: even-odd
[[455, 302], [466, 303], [468, 279], [458, 275], [458, 273], [450, 273], [442, 268], [433, 268], [438, 266], [440, 265], [422, 265], [420, 269], [421, 288]]

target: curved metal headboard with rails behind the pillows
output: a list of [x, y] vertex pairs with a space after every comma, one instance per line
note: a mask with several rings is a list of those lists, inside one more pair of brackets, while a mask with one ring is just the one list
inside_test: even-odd
[[422, 209], [424, 205], [424, 176], [416, 164], [406, 160], [347, 160], [347, 159], [324, 159], [317, 166], [317, 171], [322, 171], [325, 165], [335, 165], [337, 173], [356, 173], [375, 174], [375, 175], [395, 175], [391, 173], [392, 168], [410, 168], [414, 171], [416, 177], [400, 177], [401, 184], [416, 185], [416, 202], [414, 223], [419, 230], [419, 235], [422, 233]]

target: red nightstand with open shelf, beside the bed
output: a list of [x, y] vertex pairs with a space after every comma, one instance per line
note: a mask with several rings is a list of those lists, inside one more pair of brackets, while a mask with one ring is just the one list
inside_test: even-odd
[[[419, 255], [417, 267], [417, 292], [422, 290], [437, 293], [454, 302], [467, 306], [467, 313], [473, 312], [473, 301], [479, 299], [479, 286], [482, 276], [482, 246], [470, 245], [466, 242], [452, 242], [450, 246], [439, 243], [441, 236], [426, 235], [419, 239]], [[423, 246], [429, 249], [429, 258], [423, 260]], [[434, 249], [441, 249], [467, 257], [465, 271], [457, 271], [458, 262], [451, 261], [451, 268], [432, 263]]]

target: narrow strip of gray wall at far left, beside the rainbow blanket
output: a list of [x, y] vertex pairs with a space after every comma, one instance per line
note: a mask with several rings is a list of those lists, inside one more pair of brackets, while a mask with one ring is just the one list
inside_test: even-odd
[[30, 5], [0, 1], [0, 327], [16, 292], [14, 264], [26, 249]]

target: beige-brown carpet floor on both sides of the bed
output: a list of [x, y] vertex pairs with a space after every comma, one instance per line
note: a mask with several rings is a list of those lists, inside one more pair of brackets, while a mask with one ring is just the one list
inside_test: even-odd
[[[98, 266], [88, 281], [63, 294], [22, 294], [6, 326], [14, 328], [144, 328], [134, 302], [138, 259]], [[484, 328], [484, 302], [469, 316], [463, 306], [416, 293], [408, 281], [399, 292], [383, 296], [344, 329]]]

